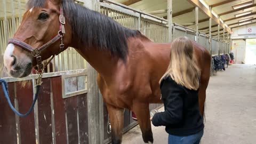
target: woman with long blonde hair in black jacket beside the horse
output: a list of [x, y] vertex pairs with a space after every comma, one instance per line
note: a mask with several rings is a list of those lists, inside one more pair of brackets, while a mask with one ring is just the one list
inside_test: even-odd
[[200, 71], [190, 39], [175, 39], [169, 67], [160, 80], [165, 111], [151, 118], [153, 125], [165, 126], [168, 143], [197, 144], [203, 136], [203, 117], [198, 107]]

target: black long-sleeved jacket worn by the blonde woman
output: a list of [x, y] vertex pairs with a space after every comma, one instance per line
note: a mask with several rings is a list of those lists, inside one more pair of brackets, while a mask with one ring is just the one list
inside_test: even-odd
[[204, 129], [203, 117], [199, 113], [198, 90], [189, 90], [165, 77], [161, 82], [164, 112], [156, 113], [152, 119], [155, 126], [166, 126], [172, 135], [191, 135]]

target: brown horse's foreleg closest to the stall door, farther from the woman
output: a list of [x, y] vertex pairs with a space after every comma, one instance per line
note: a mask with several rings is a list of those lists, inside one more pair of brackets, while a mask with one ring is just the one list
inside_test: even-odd
[[121, 144], [124, 127], [124, 109], [107, 104], [111, 124], [111, 143]]

